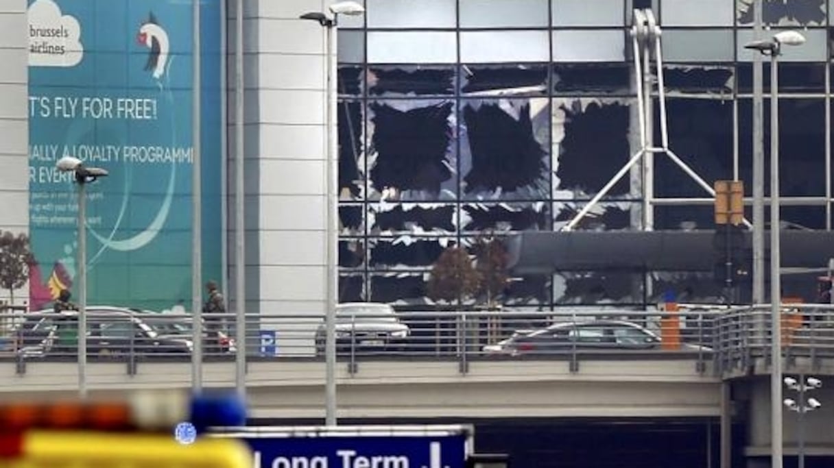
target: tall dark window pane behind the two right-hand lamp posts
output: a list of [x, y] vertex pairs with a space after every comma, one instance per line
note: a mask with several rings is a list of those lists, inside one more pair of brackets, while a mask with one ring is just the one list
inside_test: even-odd
[[[824, 197], [826, 192], [826, 117], [825, 99], [779, 100], [779, 178], [782, 197]], [[752, 134], [751, 99], [738, 102], [740, 135]], [[770, 122], [770, 99], [764, 102], [764, 122]], [[765, 154], [770, 154], [770, 125], [764, 126]], [[752, 142], [739, 138], [739, 178], [752, 181]], [[765, 174], [770, 174], [770, 158], [765, 157]], [[745, 184], [747, 185], [747, 184]], [[765, 183], [770, 193], [770, 182]]]

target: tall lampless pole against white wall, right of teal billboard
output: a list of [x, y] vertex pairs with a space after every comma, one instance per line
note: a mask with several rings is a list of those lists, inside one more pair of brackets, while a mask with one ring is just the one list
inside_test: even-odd
[[234, 381], [241, 398], [246, 397], [246, 227], [244, 226], [244, 2], [237, 0], [234, 51], [234, 296], [236, 322]]

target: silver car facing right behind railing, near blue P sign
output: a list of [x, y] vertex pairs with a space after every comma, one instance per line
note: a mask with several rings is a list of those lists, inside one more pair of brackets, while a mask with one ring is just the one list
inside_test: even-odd
[[[336, 353], [367, 354], [374, 351], [403, 351], [411, 334], [399, 320], [394, 307], [376, 302], [347, 302], [336, 306]], [[316, 353], [324, 355], [325, 324], [315, 334]]]

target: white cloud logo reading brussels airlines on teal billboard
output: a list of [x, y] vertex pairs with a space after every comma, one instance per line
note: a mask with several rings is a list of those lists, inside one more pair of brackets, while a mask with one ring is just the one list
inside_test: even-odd
[[81, 25], [53, 0], [35, 0], [28, 10], [29, 66], [75, 67], [84, 56]]

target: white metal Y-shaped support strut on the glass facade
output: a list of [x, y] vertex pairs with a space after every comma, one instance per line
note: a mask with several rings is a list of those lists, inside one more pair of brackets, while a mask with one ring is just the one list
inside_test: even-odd
[[[634, 167], [637, 162], [640, 162], [641, 159], [645, 158], [646, 168], [644, 170], [644, 175], [646, 176], [643, 182], [643, 199], [646, 201], [644, 209], [646, 211], [650, 211], [644, 213], [644, 224], [646, 224], [646, 229], [651, 229], [651, 210], [653, 210], [654, 205], [656, 202], [661, 202], [662, 199], [654, 198], [654, 184], [652, 183], [652, 178], [654, 177], [654, 154], [662, 153], [665, 154], [672, 162], [674, 162], [678, 167], [681, 167], [683, 172], [686, 172], [686, 175], [691, 177], [701, 188], [707, 192], [710, 197], [716, 196], [716, 191], [708, 184], [701, 176], [695, 172], [686, 162], [684, 162], [680, 157], [676, 155], [669, 148], [669, 132], [668, 126], [666, 124], [666, 90], [663, 82], [663, 58], [661, 53], [661, 27], [657, 25], [655, 19], [655, 13], [651, 11], [650, 8], [646, 9], [635, 9], [632, 17], [632, 25], [631, 25], [631, 47], [634, 51], [634, 69], [636, 73], [636, 88], [637, 88], [637, 108], [638, 108], [638, 124], [640, 125], [640, 144], [641, 149], [638, 150], [634, 155], [632, 155], [628, 162], [620, 168], [614, 177], [605, 184], [604, 187], [597, 192], [596, 195], [590, 199], [590, 202], [585, 204], [585, 207], [576, 213], [573, 219], [570, 220], [564, 227], [562, 227], [562, 231], [572, 231], [582, 218], [584, 218], [590, 210], [596, 206], [597, 203], [602, 200], [605, 195], [610, 192], [611, 188], [613, 188], [617, 182], [620, 182], [620, 179], [625, 176], [625, 174], [631, 171], [631, 168]], [[651, 98], [651, 85], [646, 86], [644, 89], [644, 77], [651, 77], [651, 56], [655, 56], [656, 61], [656, 70], [657, 70], [657, 81], [656, 81], [656, 92], [658, 97], [658, 105], [660, 107], [660, 127], [661, 127], [661, 147], [655, 147], [654, 142], [651, 141], [650, 135], [652, 134], [652, 129], [649, 127], [649, 123], [651, 122], [651, 116], [654, 112], [654, 107], [652, 106], [652, 98]], [[646, 79], [646, 82], [651, 83], [651, 79]], [[752, 227], [751, 223], [744, 220], [744, 223], [747, 227]]]

